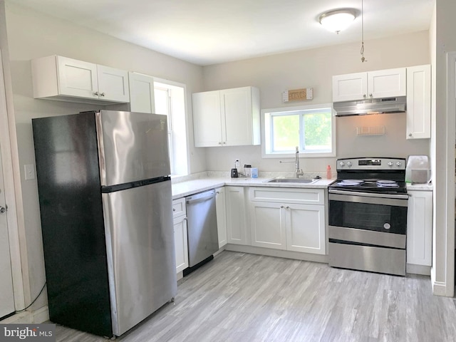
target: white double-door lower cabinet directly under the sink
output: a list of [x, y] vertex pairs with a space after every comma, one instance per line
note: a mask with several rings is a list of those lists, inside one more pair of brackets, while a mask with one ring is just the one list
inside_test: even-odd
[[252, 246], [326, 253], [323, 190], [252, 187], [250, 223]]

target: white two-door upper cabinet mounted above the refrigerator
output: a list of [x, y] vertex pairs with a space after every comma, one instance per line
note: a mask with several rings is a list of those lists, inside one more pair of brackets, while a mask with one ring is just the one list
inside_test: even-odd
[[33, 97], [77, 103], [128, 103], [128, 72], [62, 56], [31, 61]]

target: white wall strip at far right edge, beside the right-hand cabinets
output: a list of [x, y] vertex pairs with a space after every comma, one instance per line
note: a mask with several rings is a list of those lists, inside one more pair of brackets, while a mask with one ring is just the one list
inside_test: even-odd
[[[432, 286], [435, 294], [454, 294], [455, 246], [455, 122], [454, 111], [447, 111], [447, 52], [456, 51], [455, 39], [456, 1], [437, 0], [432, 28], [432, 64], [435, 64], [435, 108], [432, 110], [432, 168], [434, 182], [434, 222], [432, 246]], [[450, 94], [452, 98], [455, 94]]]

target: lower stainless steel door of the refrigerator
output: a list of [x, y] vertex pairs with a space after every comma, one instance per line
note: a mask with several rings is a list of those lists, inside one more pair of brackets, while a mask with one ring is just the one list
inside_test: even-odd
[[171, 181], [103, 193], [113, 333], [177, 294]]

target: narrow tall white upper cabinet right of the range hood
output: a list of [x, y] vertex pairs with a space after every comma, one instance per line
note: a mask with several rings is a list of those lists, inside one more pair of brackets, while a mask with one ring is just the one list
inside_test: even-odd
[[430, 65], [407, 68], [407, 139], [430, 138]]

